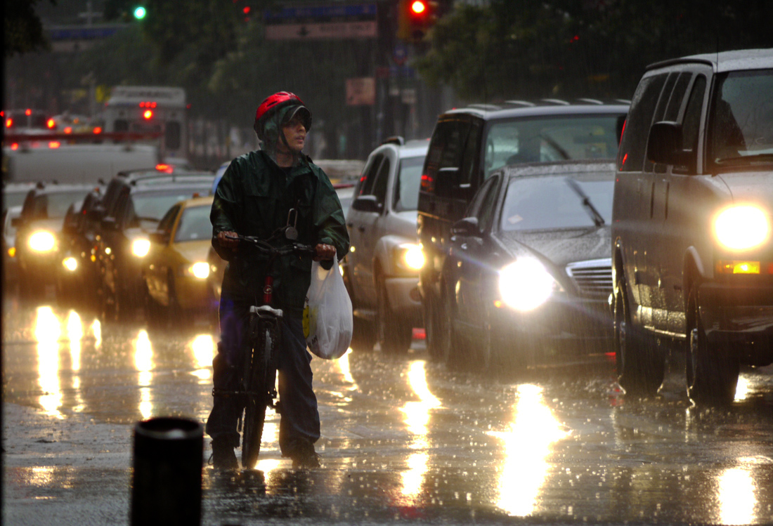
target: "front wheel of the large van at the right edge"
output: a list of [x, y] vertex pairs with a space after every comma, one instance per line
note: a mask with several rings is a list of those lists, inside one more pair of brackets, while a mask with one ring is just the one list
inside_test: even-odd
[[700, 319], [698, 287], [687, 300], [687, 395], [695, 402], [728, 404], [735, 398], [740, 362], [727, 349], [708, 341]]

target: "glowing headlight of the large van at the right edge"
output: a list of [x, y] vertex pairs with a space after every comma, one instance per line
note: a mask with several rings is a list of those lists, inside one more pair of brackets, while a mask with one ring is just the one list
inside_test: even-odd
[[714, 236], [725, 248], [747, 250], [768, 240], [771, 226], [765, 212], [752, 205], [724, 209], [714, 219]]

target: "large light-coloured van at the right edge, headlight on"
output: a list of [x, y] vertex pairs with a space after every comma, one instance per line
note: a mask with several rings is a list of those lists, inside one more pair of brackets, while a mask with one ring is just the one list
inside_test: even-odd
[[618, 375], [652, 394], [686, 349], [688, 394], [734, 399], [773, 361], [773, 49], [656, 63], [623, 131], [612, 212]]

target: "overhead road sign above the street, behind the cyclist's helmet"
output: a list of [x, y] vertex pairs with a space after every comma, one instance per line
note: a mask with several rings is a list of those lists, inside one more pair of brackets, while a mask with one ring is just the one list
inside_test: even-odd
[[306, 5], [264, 12], [266, 39], [375, 39], [376, 4]]

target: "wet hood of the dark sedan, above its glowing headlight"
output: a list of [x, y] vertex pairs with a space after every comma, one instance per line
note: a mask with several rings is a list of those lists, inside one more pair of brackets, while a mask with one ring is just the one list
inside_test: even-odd
[[538, 232], [499, 232], [497, 237], [514, 256], [523, 254], [526, 249], [539, 256], [543, 263], [561, 268], [574, 261], [611, 257], [611, 234], [608, 226]]

